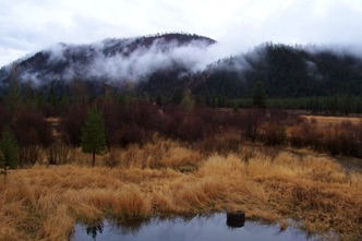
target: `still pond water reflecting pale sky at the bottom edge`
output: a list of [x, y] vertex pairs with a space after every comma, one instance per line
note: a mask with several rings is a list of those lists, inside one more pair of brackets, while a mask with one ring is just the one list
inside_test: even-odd
[[219, 241], [219, 240], [314, 240], [298, 229], [289, 227], [280, 231], [278, 225], [263, 225], [256, 221], [245, 221], [242, 228], [230, 228], [226, 224], [226, 214], [197, 216], [191, 218], [150, 219], [147, 221], [133, 220], [113, 225], [104, 221], [99, 226], [85, 227], [76, 225], [72, 241]]

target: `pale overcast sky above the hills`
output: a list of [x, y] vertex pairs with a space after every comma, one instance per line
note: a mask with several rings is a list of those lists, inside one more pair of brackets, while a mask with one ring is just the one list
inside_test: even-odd
[[362, 45], [362, 0], [0, 0], [0, 65], [57, 43], [185, 32], [233, 51]]

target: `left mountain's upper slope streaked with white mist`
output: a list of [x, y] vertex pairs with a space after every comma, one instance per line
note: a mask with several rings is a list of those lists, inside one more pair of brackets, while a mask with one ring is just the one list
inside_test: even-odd
[[[193, 71], [197, 61], [186, 58], [202, 52], [215, 40], [190, 34], [165, 34], [138, 38], [105, 39], [92, 45], [59, 44], [0, 71], [5, 88], [12, 76], [37, 87], [67, 84], [77, 79], [121, 86], [156, 75], [181, 75]], [[169, 73], [170, 72], [170, 73]]]

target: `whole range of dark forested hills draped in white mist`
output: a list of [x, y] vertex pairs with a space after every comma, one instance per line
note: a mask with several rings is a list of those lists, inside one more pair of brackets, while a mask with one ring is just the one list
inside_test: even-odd
[[2, 98], [12, 80], [23, 91], [51, 89], [58, 98], [70, 95], [77, 81], [86, 83], [89, 98], [109, 86], [159, 103], [189, 92], [208, 106], [250, 98], [255, 83], [262, 82], [268, 98], [309, 98], [310, 107], [318, 105], [315, 101], [348, 101], [360, 111], [362, 58], [357, 47], [348, 46], [263, 43], [246, 52], [232, 52], [225, 44], [195, 34], [157, 34], [58, 44], [19, 59], [0, 71]]

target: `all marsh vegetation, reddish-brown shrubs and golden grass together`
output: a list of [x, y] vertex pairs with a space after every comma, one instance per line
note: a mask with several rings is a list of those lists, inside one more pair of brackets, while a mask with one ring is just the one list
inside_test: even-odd
[[[292, 218], [310, 233], [361, 239], [358, 118], [106, 98], [43, 108], [0, 106], [20, 167], [0, 181], [0, 240], [69, 240], [77, 222], [233, 209], [282, 229]], [[102, 156], [82, 148], [92, 108], [104, 118]]]

